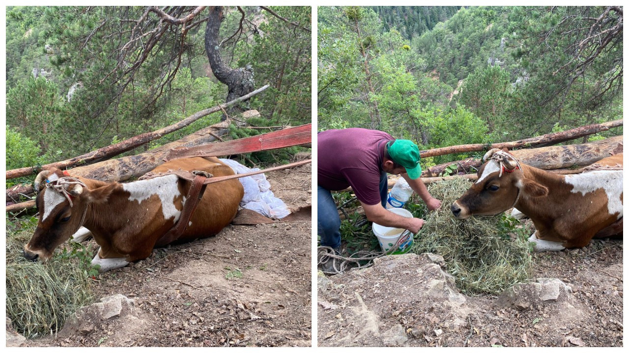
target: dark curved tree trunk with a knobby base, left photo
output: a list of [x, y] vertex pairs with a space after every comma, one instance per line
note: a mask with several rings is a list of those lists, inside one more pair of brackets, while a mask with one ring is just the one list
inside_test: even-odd
[[[223, 21], [223, 6], [209, 6], [208, 24], [205, 29], [205, 51], [208, 55], [209, 66], [212, 68], [214, 76], [223, 84], [227, 85], [227, 102], [242, 97], [253, 90], [253, 68], [247, 65], [243, 68], [228, 67], [221, 58], [220, 45], [218, 43], [218, 33]], [[228, 112], [240, 113], [245, 109], [241, 106], [234, 106]], [[225, 116], [223, 119], [225, 120]]]

